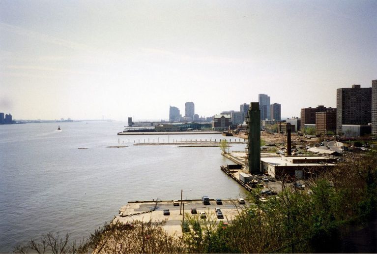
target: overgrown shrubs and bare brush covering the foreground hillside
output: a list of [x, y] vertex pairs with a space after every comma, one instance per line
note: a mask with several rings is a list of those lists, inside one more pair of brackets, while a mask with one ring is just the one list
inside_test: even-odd
[[[342, 227], [366, 222], [375, 214], [376, 184], [376, 156], [350, 155], [333, 171], [306, 182], [305, 191], [287, 187], [277, 196], [270, 196], [267, 202], [261, 200], [259, 190], [252, 192], [251, 205], [239, 209], [239, 215], [229, 225], [215, 223], [211, 215], [206, 220], [187, 215], [185, 233], [177, 237], [168, 235], [163, 223], [105, 224], [86, 243], [64, 250], [70, 253], [337, 252]], [[16, 252], [35, 252], [36, 245], [37, 241], [32, 241]], [[68, 242], [65, 245], [72, 246]], [[46, 252], [58, 253], [55, 249]]]

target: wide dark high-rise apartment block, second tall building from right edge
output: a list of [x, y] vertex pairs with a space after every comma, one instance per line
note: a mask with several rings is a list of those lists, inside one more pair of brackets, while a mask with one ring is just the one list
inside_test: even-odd
[[[342, 133], [342, 125], [368, 125], [372, 120], [372, 88], [339, 88], [336, 94], [336, 131]], [[344, 132], [343, 132], [344, 133]]]

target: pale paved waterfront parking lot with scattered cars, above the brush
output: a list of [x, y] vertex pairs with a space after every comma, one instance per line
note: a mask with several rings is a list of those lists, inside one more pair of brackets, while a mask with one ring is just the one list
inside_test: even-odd
[[[166, 220], [164, 226], [165, 230], [170, 234], [182, 235], [182, 218], [183, 218], [183, 208], [185, 220], [188, 216], [200, 217], [200, 213], [204, 212], [207, 216], [207, 219], [210, 221], [224, 221], [232, 223], [232, 219], [238, 215], [245, 205], [238, 204], [237, 200], [223, 200], [222, 205], [217, 205], [214, 200], [210, 200], [209, 205], [203, 205], [201, 200], [185, 200], [182, 201], [182, 207], [174, 206], [173, 202], [162, 201], [158, 202], [155, 208], [156, 202], [137, 202], [137, 203], [128, 203], [126, 206], [123, 206], [114, 220], [120, 222], [133, 222], [133, 221], [143, 221], [143, 222], [162, 222]], [[184, 204], [184, 206], [183, 206]], [[247, 202], [246, 202], [247, 204]], [[149, 212], [151, 210], [154, 211]], [[182, 210], [181, 210], [182, 208]], [[197, 214], [191, 214], [191, 208], [197, 209]], [[218, 219], [215, 213], [215, 208], [220, 208], [224, 219]], [[169, 209], [170, 215], [164, 215], [164, 209]], [[182, 214], [180, 215], [180, 212]]]

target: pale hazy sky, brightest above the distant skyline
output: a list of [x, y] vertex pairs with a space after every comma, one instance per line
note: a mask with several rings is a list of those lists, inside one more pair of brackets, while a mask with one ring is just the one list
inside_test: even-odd
[[282, 117], [377, 79], [377, 1], [0, 0], [0, 112], [212, 116], [267, 94]]

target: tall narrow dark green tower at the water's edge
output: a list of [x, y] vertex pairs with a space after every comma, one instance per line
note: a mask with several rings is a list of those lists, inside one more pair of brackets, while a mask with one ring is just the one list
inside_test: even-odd
[[261, 111], [259, 102], [251, 102], [247, 112], [247, 157], [250, 174], [261, 174]]

